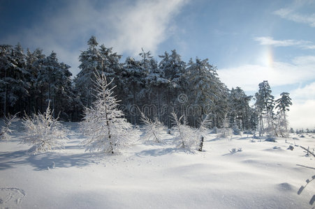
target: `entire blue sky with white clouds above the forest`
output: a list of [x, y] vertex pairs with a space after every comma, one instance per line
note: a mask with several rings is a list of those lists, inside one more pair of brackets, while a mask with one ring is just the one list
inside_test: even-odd
[[315, 128], [314, 0], [0, 0], [0, 28], [0, 44], [54, 50], [74, 75], [91, 35], [122, 61], [141, 47], [208, 58], [229, 88], [291, 93], [291, 126]]

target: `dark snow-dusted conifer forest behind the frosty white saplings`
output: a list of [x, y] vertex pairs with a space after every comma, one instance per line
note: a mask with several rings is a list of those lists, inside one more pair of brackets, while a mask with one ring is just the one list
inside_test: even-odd
[[208, 115], [212, 127], [226, 127], [228, 121], [228, 127], [256, 130], [270, 113], [263, 102], [250, 107], [252, 97], [241, 88], [229, 90], [207, 59], [185, 63], [173, 50], [159, 56], [161, 61], [157, 62], [142, 49], [141, 59], [127, 57], [122, 62], [121, 55], [98, 45], [94, 36], [87, 45], [80, 54], [80, 72], [74, 79], [70, 66], [59, 63], [54, 52], [45, 56], [40, 49], [24, 53], [19, 44], [0, 45], [1, 115], [43, 112], [50, 103], [55, 116], [80, 121], [84, 108], [91, 107], [95, 100], [95, 73], [104, 73], [108, 82], [112, 80], [119, 108], [134, 125], [140, 123], [142, 111], [170, 127], [170, 114], [175, 111], [184, 114], [194, 127]]

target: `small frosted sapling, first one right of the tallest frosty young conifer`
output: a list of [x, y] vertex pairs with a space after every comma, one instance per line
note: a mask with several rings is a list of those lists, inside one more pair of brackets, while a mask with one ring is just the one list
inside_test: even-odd
[[152, 121], [141, 112], [141, 121], [145, 124], [143, 126], [143, 130], [145, 132], [144, 138], [146, 140], [153, 139], [155, 142], [160, 143], [163, 124], [159, 121], [159, 119], [154, 118], [154, 121]]

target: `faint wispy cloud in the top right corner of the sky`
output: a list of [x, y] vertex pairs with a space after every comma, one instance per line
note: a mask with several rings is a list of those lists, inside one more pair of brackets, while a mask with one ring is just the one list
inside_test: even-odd
[[294, 1], [292, 6], [274, 11], [274, 15], [278, 15], [286, 20], [308, 24], [309, 26], [315, 27], [315, 13], [304, 15], [296, 11], [298, 8], [311, 4], [314, 4], [314, 1]]

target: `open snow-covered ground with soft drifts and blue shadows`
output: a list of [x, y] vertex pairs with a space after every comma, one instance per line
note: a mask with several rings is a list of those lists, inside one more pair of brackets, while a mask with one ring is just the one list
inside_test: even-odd
[[[19, 144], [0, 141], [0, 208], [312, 208], [315, 135], [291, 134], [287, 142], [251, 135], [221, 139], [207, 134], [203, 152], [144, 143], [119, 155], [86, 153], [78, 123], [64, 150], [30, 155]], [[294, 138], [294, 139], [293, 139]], [[233, 148], [242, 151], [230, 153]]]

